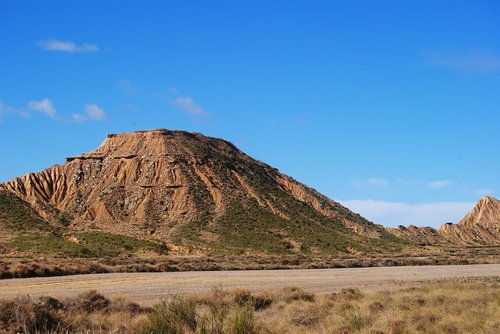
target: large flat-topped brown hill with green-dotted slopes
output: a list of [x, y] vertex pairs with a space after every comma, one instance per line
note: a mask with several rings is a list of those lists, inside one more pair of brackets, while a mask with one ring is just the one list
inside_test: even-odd
[[[99, 240], [182, 254], [336, 254], [408, 244], [233, 144], [184, 131], [108, 135], [95, 151], [0, 190], [34, 217], [36, 228], [14, 224], [19, 233], [93, 254]], [[13, 229], [10, 208], [0, 207], [4, 235]], [[4, 249], [13, 240], [4, 237]]]

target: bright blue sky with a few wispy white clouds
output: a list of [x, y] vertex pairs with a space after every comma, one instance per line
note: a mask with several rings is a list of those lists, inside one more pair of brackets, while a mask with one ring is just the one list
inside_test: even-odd
[[0, 1], [0, 182], [152, 128], [385, 225], [500, 192], [498, 1]]

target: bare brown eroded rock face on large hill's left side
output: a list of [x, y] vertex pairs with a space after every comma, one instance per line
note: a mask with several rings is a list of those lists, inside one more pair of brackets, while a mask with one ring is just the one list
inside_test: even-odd
[[0, 187], [30, 203], [46, 219], [70, 212], [75, 225], [96, 222], [127, 231], [135, 222], [185, 221], [196, 215], [189, 194], [193, 179], [206, 187], [214, 210], [223, 205], [211, 161], [201, 161], [194, 152], [202, 146], [221, 154], [242, 154], [225, 141], [199, 134], [167, 130], [112, 134], [95, 151]]

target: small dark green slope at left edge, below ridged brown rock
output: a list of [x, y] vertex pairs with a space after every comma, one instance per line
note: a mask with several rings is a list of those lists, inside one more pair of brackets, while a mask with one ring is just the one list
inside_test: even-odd
[[0, 224], [15, 231], [48, 231], [49, 224], [38, 218], [24, 202], [8, 191], [0, 191]]

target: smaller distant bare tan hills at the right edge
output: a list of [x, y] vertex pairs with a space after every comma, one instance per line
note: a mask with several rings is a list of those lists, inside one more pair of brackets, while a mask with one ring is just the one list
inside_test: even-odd
[[435, 230], [431, 227], [399, 226], [388, 228], [390, 233], [428, 245], [499, 245], [500, 201], [485, 196], [458, 223], [446, 223]]

